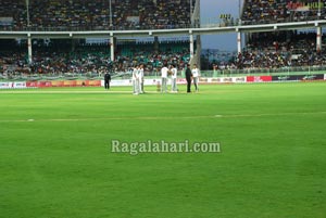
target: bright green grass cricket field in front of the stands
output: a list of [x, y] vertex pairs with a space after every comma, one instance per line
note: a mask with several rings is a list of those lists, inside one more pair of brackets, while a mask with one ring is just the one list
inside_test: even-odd
[[[1, 90], [0, 217], [326, 217], [326, 82], [129, 90]], [[221, 153], [112, 153], [112, 140]]]

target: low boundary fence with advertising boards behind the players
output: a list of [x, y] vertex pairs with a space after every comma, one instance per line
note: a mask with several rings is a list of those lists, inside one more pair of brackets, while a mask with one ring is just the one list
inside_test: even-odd
[[[201, 70], [201, 77], [241, 77], [241, 76], [292, 76], [292, 75], [319, 75], [326, 74], [326, 66], [285, 67], [285, 68], [260, 68], [260, 69], [217, 69]], [[66, 74], [0, 74], [0, 81], [37, 81], [37, 80], [102, 80], [104, 75], [98, 73], [66, 73]], [[145, 73], [146, 78], [160, 78], [160, 70]], [[115, 72], [112, 79], [129, 79], [130, 72]], [[178, 77], [185, 77], [185, 70], [178, 70]]]

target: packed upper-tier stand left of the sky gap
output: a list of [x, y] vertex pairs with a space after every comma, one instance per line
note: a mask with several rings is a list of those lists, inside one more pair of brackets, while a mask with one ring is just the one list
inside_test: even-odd
[[29, 0], [28, 7], [25, 2], [1, 1], [0, 29], [124, 30], [190, 25], [190, 5], [186, 0], [111, 0], [112, 11], [109, 0]]

